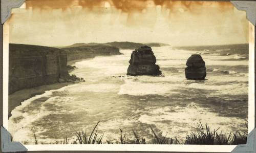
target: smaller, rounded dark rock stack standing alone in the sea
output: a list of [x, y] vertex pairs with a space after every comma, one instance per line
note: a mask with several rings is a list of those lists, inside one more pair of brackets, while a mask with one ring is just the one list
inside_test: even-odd
[[193, 54], [187, 59], [185, 75], [187, 79], [204, 80], [206, 77], [205, 63], [201, 55]]

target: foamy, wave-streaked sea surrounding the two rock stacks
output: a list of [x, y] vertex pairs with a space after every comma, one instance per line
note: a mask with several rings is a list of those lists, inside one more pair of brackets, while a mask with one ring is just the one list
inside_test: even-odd
[[[132, 129], [146, 140], [150, 126], [158, 134], [177, 137], [208, 123], [224, 133], [246, 129], [248, 114], [248, 60], [242, 55], [202, 54], [206, 80], [186, 80], [187, 58], [195, 51], [156, 47], [153, 52], [162, 76], [126, 76], [132, 50], [74, 63], [72, 74], [86, 82], [28, 99], [12, 111], [9, 131], [14, 141], [54, 143], [75, 130], [88, 132], [98, 121], [103, 141], [119, 141], [120, 129], [133, 138]], [[241, 60], [242, 59], [242, 60]], [[121, 77], [119, 77], [121, 76]]]

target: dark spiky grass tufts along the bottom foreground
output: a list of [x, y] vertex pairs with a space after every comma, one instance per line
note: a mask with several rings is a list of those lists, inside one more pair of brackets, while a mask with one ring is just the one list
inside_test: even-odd
[[[53, 144], [102, 144], [102, 143], [113, 143], [108, 140], [102, 142], [104, 134], [98, 133], [99, 122], [95, 125], [92, 132], [87, 133], [86, 130], [78, 130], [76, 132], [76, 140], [69, 141], [67, 137], [61, 141], [56, 141]], [[248, 123], [245, 123], [248, 128]], [[151, 127], [153, 139], [146, 141], [144, 137], [140, 137], [137, 133], [132, 130], [134, 139], [128, 139], [124, 134], [122, 129], [120, 129], [120, 140], [115, 142], [117, 144], [205, 144], [205, 145], [237, 145], [237, 144], [246, 144], [246, 138], [248, 136], [247, 131], [236, 131], [230, 132], [228, 134], [223, 134], [219, 132], [218, 129], [211, 130], [207, 125], [203, 125], [201, 122], [198, 123], [198, 127], [195, 132], [191, 132], [190, 135], [187, 135], [185, 142], [179, 141], [177, 138], [167, 138], [165, 136], [158, 135], [154, 129]], [[34, 135], [35, 144], [39, 144]], [[42, 143], [41, 143], [42, 144]]]

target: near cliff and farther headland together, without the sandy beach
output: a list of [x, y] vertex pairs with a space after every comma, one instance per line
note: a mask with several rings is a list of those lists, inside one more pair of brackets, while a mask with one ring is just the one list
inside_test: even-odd
[[70, 60], [120, 54], [118, 48], [106, 45], [57, 49], [10, 43], [9, 95], [40, 85], [80, 80], [69, 75], [67, 62]]

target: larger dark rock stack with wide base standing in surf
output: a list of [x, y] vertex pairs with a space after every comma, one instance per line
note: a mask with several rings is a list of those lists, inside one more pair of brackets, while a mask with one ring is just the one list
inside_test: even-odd
[[160, 75], [159, 66], [156, 65], [156, 57], [148, 46], [135, 49], [129, 61], [127, 75]]

